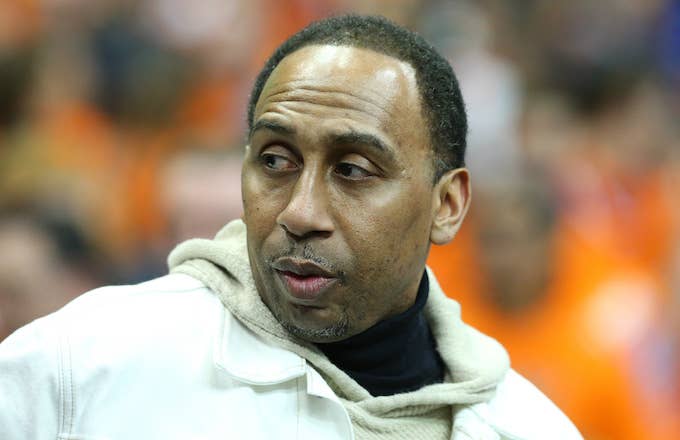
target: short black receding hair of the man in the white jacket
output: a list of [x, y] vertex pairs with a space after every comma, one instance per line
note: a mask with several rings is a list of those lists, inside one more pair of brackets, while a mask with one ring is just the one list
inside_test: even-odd
[[248, 103], [248, 129], [267, 79], [281, 60], [311, 45], [370, 49], [409, 63], [416, 71], [422, 112], [429, 125], [435, 179], [465, 166], [467, 117], [458, 80], [444, 57], [423, 37], [380, 16], [342, 15], [316, 21], [288, 38], [258, 74]]

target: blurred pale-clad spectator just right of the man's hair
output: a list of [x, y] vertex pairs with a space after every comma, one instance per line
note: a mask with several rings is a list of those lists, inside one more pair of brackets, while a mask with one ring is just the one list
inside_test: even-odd
[[517, 163], [522, 90], [512, 62], [494, 50], [494, 23], [474, 2], [436, 2], [422, 17], [428, 40], [455, 67], [468, 110], [466, 164], [486, 179]]

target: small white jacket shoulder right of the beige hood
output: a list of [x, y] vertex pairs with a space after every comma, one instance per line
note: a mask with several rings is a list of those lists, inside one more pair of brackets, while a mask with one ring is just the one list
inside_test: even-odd
[[510, 370], [499, 384], [496, 395], [487, 403], [470, 410], [494, 429], [501, 438], [511, 440], [579, 440], [573, 423], [531, 382]]

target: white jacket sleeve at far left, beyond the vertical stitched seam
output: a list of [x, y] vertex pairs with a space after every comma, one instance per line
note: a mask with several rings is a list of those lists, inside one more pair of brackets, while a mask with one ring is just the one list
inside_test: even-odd
[[59, 337], [50, 317], [39, 319], [0, 343], [0, 439], [58, 438], [66, 408]]

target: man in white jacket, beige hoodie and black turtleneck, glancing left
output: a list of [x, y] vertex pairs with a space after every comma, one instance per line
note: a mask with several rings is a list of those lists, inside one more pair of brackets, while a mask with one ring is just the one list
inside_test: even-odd
[[425, 269], [470, 200], [448, 63], [376, 17], [260, 73], [243, 221], [0, 348], [3, 439], [577, 439]]

